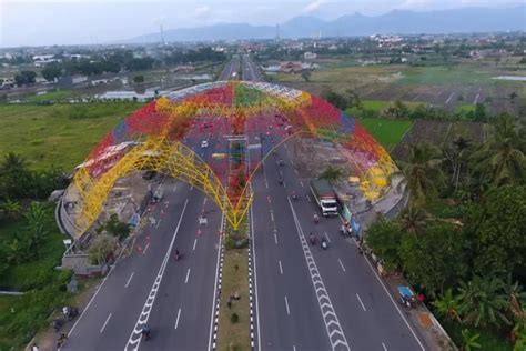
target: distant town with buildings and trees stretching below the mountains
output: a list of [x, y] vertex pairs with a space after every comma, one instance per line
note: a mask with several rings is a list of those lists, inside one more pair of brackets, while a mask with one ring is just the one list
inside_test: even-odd
[[[279, 74], [308, 79], [312, 71], [345, 64], [436, 66], [487, 61], [526, 64], [523, 32], [447, 36], [375, 34], [360, 38], [280, 39], [156, 44], [0, 49], [0, 100], [11, 103], [92, 100], [148, 101], [159, 94], [213, 81], [237, 52], [252, 53], [267, 80]], [[340, 64], [340, 63], [338, 63]], [[494, 79], [524, 80], [514, 74]], [[60, 92], [60, 93], [59, 93]]]

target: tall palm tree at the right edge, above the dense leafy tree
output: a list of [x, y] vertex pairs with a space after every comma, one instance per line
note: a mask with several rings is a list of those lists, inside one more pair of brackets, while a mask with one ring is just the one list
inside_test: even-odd
[[526, 173], [526, 156], [519, 149], [514, 118], [498, 117], [495, 138], [473, 154], [473, 171], [479, 178], [489, 178], [494, 187], [517, 184]]

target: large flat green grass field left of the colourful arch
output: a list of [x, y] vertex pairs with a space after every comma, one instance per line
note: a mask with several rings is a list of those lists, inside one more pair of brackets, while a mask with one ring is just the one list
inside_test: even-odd
[[0, 106], [0, 157], [21, 154], [32, 169], [71, 171], [122, 119], [134, 102]]

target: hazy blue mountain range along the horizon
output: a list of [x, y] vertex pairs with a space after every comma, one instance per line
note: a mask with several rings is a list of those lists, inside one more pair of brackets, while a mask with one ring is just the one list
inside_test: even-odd
[[[361, 13], [346, 14], [332, 21], [302, 16], [281, 23], [279, 36], [280, 38], [313, 38], [318, 36], [434, 34], [517, 30], [526, 31], [526, 6], [507, 9], [463, 8], [427, 12], [393, 10], [376, 17]], [[271, 39], [275, 36], [275, 26], [247, 23], [216, 23], [164, 31], [166, 41]], [[149, 33], [120, 42], [159, 42], [160, 37], [159, 32]]]

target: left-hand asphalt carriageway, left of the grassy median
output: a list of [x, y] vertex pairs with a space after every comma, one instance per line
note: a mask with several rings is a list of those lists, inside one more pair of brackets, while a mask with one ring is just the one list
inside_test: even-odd
[[[188, 144], [209, 159], [200, 138]], [[215, 139], [210, 141], [214, 147]], [[121, 259], [72, 329], [62, 350], [206, 350], [216, 281], [221, 211], [204, 194], [166, 178], [130, 257]], [[204, 215], [206, 225], [198, 219]], [[173, 242], [173, 243], [172, 243]], [[174, 252], [183, 257], [175, 261]], [[148, 321], [151, 339], [139, 341]]]

